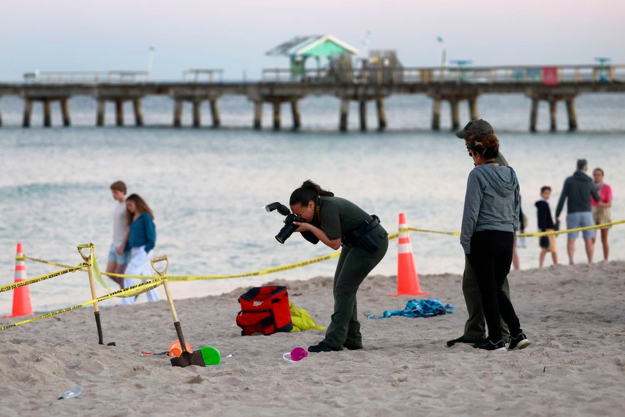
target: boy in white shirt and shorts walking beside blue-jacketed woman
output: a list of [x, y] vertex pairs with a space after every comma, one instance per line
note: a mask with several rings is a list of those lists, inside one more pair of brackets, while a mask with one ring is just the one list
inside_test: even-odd
[[[106, 265], [106, 272], [122, 274], [128, 264], [128, 251], [124, 251], [128, 241], [128, 210], [126, 210], [126, 184], [116, 181], [111, 184], [113, 199], [117, 202], [113, 212], [113, 243], [109, 250], [109, 262]], [[110, 275], [109, 275], [110, 276]], [[124, 279], [111, 277], [124, 288]]]

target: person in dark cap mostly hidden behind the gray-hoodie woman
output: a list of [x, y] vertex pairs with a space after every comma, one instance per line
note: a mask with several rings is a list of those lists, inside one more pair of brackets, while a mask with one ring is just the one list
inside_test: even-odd
[[[469, 121], [462, 130], [456, 132], [456, 136], [464, 139], [464, 145], [468, 151], [471, 139], [482, 138], [486, 135], [492, 135], [493, 133], [494, 130], [490, 123], [486, 120], [478, 119]], [[508, 166], [506, 158], [501, 155], [501, 152], [497, 153], [495, 162], [504, 167]], [[508, 299], [510, 299], [510, 287], [507, 278], [504, 280], [503, 291], [506, 293]], [[464, 324], [464, 333], [462, 336], [448, 341], [448, 348], [451, 348], [456, 343], [477, 343], [486, 339], [486, 320], [484, 319], [484, 310], [482, 309], [479, 287], [477, 286], [475, 273], [466, 256], [464, 257], [464, 272], [462, 274], [462, 294], [464, 295], [464, 302], [467, 306], [469, 318]], [[504, 341], [507, 342], [510, 333], [503, 319], [501, 319], [501, 333]]]

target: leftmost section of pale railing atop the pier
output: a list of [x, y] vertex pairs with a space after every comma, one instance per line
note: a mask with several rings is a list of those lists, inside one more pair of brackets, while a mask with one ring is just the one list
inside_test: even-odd
[[138, 84], [147, 83], [149, 71], [34, 71], [24, 74], [26, 84]]

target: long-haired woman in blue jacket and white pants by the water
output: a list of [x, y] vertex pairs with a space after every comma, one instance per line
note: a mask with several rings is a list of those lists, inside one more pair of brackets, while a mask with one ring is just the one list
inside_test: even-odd
[[[148, 204], [137, 194], [131, 194], [126, 198], [128, 210], [128, 243], [126, 249], [130, 249], [130, 263], [126, 268], [128, 275], [154, 275], [150, 265], [150, 259], [154, 257], [153, 249], [156, 243], [156, 227], [154, 215]], [[134, 286], [148, 280], [125, 278], [124, 287]], [[156, 289], [146, 292], [148, 301], [158, 301]], [[122, 299], [122, 304], [134, 304], [135, 297]]]

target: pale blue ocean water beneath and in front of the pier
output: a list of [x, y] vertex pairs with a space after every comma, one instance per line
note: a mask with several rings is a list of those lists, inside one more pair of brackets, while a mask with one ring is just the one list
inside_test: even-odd
[[[41, 107], [34, 106], [30, 129], [22, 129], [22, 101], [0, 100], [0, 284], [13, 281], [14, 250], [24, 244], [27, 255], [67, 264], [81, 262], [76, 245], [93, 242], [101, 269], [111, 244], [114, 201], [109, 185], [124, 180], [130, 193], [139, 193], [156, 216], [156, 255], [169, 255], [171, 274], [235, 274], [305, 260], [331, 249], [311, 245], [294, 235], [281, 245], [274, 235], [282, 217], [267, 213], [266, 203], [287, 203], [291, 191], [311, 178], [336, 195], [349, 198], [377, 214], [389, 232], [405, 212], [411, 227], [459, 230], [466, 177], [472, 168], [462, 140], [449, 131], [443, 108], [442, 131], [428, 129], [431, 101], [422, 96], [387, 100], [388, 130], [375, 130], [374, 106], [369, 106], [370, 130], [357, 131], [352, 106], [349, 133], [337, 132], [339, 102], [311, 97], [302, 101], [302, 131], [289, 130], [284, 106], [283, 130], [269, 129], [271, 109], [264, 109], [265, 130], [253, 131], [252, 105], [244, 98], [220, 102], [223, 128], [171, 128], [173, 103], [167, 98], [144, 100], [145, 128], [96, 128], [95, 103], [78, 97], [70, 101], [73, 126], [62, 128], [53, 106], [53, 128], [41, 127]], [[542, 185], [553, 188], [555, 210], [564, 178], [577, 158], [606, 172], [614, 189], [613, 220], [625, 219], [625, 95], [584, 95], [577, 100], [579, 131], [567, 133], [566, 111], [559, 108], [559, 133], [547, 133], [546, 105], [541, 106], [539, 130], [527, 132], [529, 100], [523, 96], [492, 95], [479, 101], [480, 115], [494, 125], [501, 152], [521, 182], [522, 209], [536, 230], [534, 202]], [[184, 108], [183, 123], [191, 123]], [[468, 120], [466, 106], [461, 120]], [[561, 217], [564, 220], [564, 215]], [[411, 234], [420, 274], [461, 273], [464, 265], [457, 237]], [[625, 258], [625, 225], [610, 231], [611, 259]], [[557, 239], [559, 259], [566, 262], [566, 238]], [[521, 268], [536, 267], [537, 239], [519, 250]], [[601, 260], [597, 246], [595, 259]], [[576, 262], [585, 262], [577, 242]], [[396, 273], [396, 243], [374, 271]], [[547, 259], [546, 264], [551, 264]], [[217, 281], [174, 282], [176, 299], [220, 294], [236, 287], [261, 284], [272, 278], [306, 279], [332, 275], [336, 260], [274, 275]], [[55, 267], [27, 262], [28, 276], [53, 272]], [[393, 291], [389, 288], [389, 292]], [[90, 299], [84, 272], [63, 275], [31, 286], [33, 307], [49, 311]], [[142, 297], [141, 300], [143, 300]], [[119, 303], [113, 299], [102, 304]], [[0, 313], [11, 310], [11, 292], [0, 294]]]

